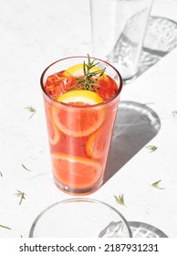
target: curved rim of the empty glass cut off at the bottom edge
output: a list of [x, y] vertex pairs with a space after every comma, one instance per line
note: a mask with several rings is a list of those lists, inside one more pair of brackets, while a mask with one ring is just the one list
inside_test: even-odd
[[29, 231], [29, 238], [33, 238], [34, 230], [36, 228], [36, 223], [47, 212], [47, 210], [49, 210], [50, 208], [54, 208], [57, 205], [62, 205], [62, 204], [66, 204], [66, 203], [75, 203], [75, 202], [96, 203], [96, 204], [106, 206], [107, 208], [110, 208], [111, 210], [116, 212], [118, 214], [118, 216], [120, 216], [120, 218], [123, 220], [126, 228], [128, 229], [129, 238], [132, 238], [132, 231], [130, 229], [129, 222], [128, 222], [127, 219], [124, 218], [124, 216], [120, 213], [120, 211], [117, 208], [114, 208], [114, 207], [110, 206], [108, 203], [105, 203], [105, 202], [103, 202], [99, 199], [94, 199], [94, 198], [89, 198], [89, 197], [86, 197], [86, 198], [84, 198], [84, 197], [73, 197], [73, 198], [63, 199], [63, 200], [57, 201], [56, 203], [53, 203], [52, 205], [50, 205], [47, 208], [45, 208], [44, 210], [42, 210], [36, 216], [36, 219], [33, 221], [33, 224], [32, 224], [31, 229]]

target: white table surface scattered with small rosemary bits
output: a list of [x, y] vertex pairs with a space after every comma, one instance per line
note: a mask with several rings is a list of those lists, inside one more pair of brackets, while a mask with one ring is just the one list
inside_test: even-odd
[[[161, 1], [158, 12], [177, 21], [177, 1]], [[0, 237], [28, 237], [36, 215], [72, 197], [53, 184], [39, 79], [51, 62], [91, 51], [89, 1], [0, 0], [0, 38], [0, 225], [10, 228], [0, 227]], [[172, 115], [177, 111], [176, 63], [177, 48], [121, 93], [122, 101], [153, 102], [149, 107], [160, 117], [161, 130], [147, 145], [158, 149], [150, 153], [145, 145], [86, 196], [169, 237], [177, 237], [177, 114]], [[32, 118], [27, 106], [36, 109]], [[164, 189], [151, 187], [158, 180]], [[16, 190], [26, 194], [21, 205]], [[113, 197], [120, 194], [126, 207]]]

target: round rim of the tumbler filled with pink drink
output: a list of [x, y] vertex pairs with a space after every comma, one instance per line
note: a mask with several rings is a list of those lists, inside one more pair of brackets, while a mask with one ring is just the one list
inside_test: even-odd
[[120, 87], [118, 89], [118, 91], [112, 96], [110, 97], [108, 100], [106, 101], [103, 101], [103, 102], [100, 102], [100, 103], [97, 103], [97, 104], [93, 104], [93, 105], [84, 105], [84, 106], [78, 106], [78, 105], [71, 105], [71, 104], [68, 104], [68, 103], [65, 103], [65, 102], [61, 102], [61, 101], [57, 101], [56, 99], [53, 99], [48, 93], [47, 91], [45, 90], [44, 88], [44, 82], [43, 82], [43, 79], [44, 79], [44, 76], [47, 72], [48, 69], [50, 69], [50, 67], [54, 66], [56, 63], [60, 62], [60, 61], [63, 61], [63, 60], [66, 60], [66, 59], [80, 59], [80, 58], [83, 58], [83, 59], [88, 59], [88, 56], [71, 56], [71, 57], [67, 57], [67, 58], [63, 58], [63, 59], [57, 59], [56, 61], [54, 61], [53, 63], [51, 63], [50, 65], [47, 66], [47, 68], [42, 72], [42, 75], [40, 77], [40, 85], [41, 85], [41, 88], [42, 88], [42, 91], [47, 95], [47, 97], [51, 100], [51, 101], [54, 101], [54, 102], [57, 102], [57, 104], [61, 104], [63, 106], [66, 106], [66, 107], [69, 107], [69, 108], [78, 108], [78, 109], [87, 109], [87, 108], [94, 108], [94, 107], [98, 107], [98, 106], [101, 106], [101, 105], [105, 105], [107, 103], [109, 103], [110, 101], [113, 101], [114, 99], [116, 99], [119, 95], [120, 95], [120, 91], [122, 90], [122, 87], [123, 87], [123, 80], [121, 78], [121, 75], [120, 75], [120, 72], [118, 71], [118, 69], [116, 69], [114, 66], [112, 66], [109, 62], [105, 61], [105, 60], [102, 60], [102, 59], [99, 59], [99, 58], [96, 58], [96, 57], [89, 57], [90, 59], [95, 59], [95, 60], [99, 60], [101, 61], [102, 63], [105, 63], [106, 65], [108, 65], [110, 68], [114, 69], [115, 72], [118, 74], [119, 76], [119, 79], [120, 79]]

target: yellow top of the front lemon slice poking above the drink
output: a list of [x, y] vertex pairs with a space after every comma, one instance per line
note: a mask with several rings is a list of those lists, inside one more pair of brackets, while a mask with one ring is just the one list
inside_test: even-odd
[[62, 94], [57, 98], [57, 101], [73, 105], [94, 105], [101, 103], [103, 100], [99, 94], [94, 91], [75, 90]]

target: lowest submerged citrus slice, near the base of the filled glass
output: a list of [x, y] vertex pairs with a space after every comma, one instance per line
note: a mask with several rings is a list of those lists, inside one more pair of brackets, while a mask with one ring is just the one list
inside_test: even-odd
[[68, 187], [83, 189], [99, 182], [102, 165], [88, 158], [53, 153], [52, 165], [58, 182]]

